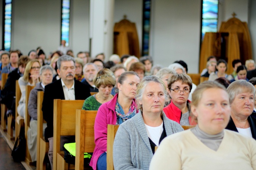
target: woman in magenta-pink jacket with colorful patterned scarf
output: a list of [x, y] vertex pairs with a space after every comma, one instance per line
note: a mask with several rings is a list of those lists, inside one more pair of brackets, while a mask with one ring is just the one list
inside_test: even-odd
[[124, 72], [117, 81], [119, 93], [99, 107], [94, 124], [96, 146], [90, 162], [94, 170], [107, 169], [107, 125], [120, 125], [138, 113], [134, 98], [139, 81], [135, 72]]

